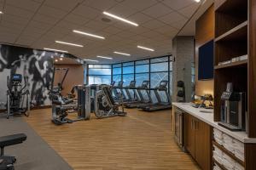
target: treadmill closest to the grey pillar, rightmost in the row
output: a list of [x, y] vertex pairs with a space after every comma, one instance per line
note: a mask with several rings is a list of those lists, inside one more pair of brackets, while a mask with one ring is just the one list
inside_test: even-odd
[[[139, 109], [142, 109], [143, 111], [160, 111], [160, 110], [166, 110], [166, 109], [171, 109], [172, 104], [171, 104], [171, 98], [170, 95], [167, 92], [167, 86], [168, 86], [168, 81], [163, 80], [160, 82], [160, 86], [157, 88], [151, 88], [150, 90], [154, 90], [154, 94], [157, 99], [157, 103], [155, 104], [148, 104], [148, 105], [143, 105], [139, 107]], [[166, 97], [167, 97], [167, 102], [164, 102], [160, 98], [159, 92], [165, 92]]]

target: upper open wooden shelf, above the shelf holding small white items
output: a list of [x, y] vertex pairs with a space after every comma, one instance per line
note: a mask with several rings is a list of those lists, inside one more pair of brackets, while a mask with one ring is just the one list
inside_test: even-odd
[[218, 41], [234, 41], [247, 38], [247, 21], [244, 21], [240, 25], [225, 32], [223, 35], [215, 38], [215, 42]]

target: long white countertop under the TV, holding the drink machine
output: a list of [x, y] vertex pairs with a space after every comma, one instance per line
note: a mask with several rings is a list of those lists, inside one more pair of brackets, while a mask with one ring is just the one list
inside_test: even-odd
[[[172, 103], [172, 105], [176, 106], [182, 111], [185, 111], [186, 113], [189, 113], [192, 116], [195, 116], [196, 118], [200, 119], [202, 122], [206, 122], [212, 127], [218, 128], [218, 130], [230, 135], [231, 137], [241, 141], [242, 143], [256, 143], [256, 139], [248, 138], [247, 133], [245, 132], [242, 132], [242, 131], [233, 132], [227, 128], [219, 126], [218, 122], [213, 121], [213, 110], [195, 108], [195, 107], [192, 107], [190, 103]], [[204, 113], [201, 111], [211, 111], [211, 113]]]

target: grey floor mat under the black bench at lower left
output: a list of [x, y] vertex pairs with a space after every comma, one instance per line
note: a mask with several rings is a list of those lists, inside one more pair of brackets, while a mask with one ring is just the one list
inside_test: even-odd
[[73, 169], [55, 150], [53, 150], [23, 117], [11, 117], [9, 120], [0, 113], [0, 136], [26, 133], [23, 144], [5, 148], [5, 154], [16, 156], [15, 170], [69, 170]]

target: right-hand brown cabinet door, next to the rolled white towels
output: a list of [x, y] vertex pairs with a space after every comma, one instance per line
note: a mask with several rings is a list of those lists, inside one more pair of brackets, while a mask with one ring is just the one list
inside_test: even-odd
[[195, 118], [195, 160], [204, 170], [211, 169], [211, 127]]

